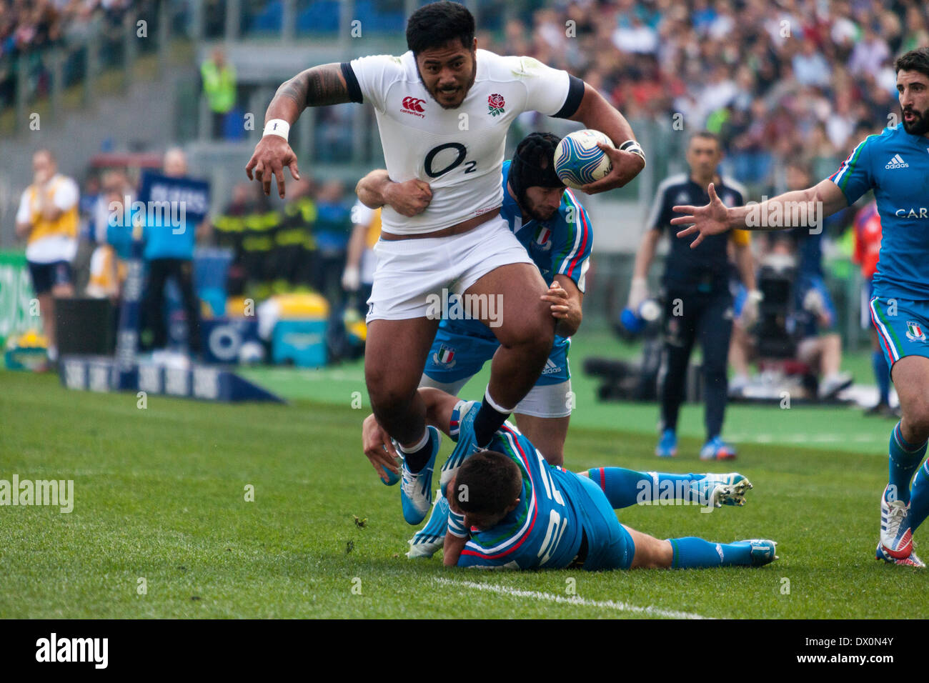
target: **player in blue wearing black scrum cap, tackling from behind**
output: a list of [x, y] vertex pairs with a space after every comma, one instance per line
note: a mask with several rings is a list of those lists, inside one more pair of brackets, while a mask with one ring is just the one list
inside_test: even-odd
[[[554, 172], [554, 154], [560, 138], [551, 133], [532, 133], [520, 141], [512, 162], [503, 167], [504, 204], [501, 216], [517, 236], [549, 285], [545, 300], [556, 318], [552, 352], [535, 387], [517, 405], [517, 425], [544, 453], [547, 461], [561, 465], [571, 412], [568, 350], [571, 335], [582, 321], [582, 300], [593, 230], [582, 205]], [[360, 190], [377, 182], [373, 171], [362, 178]], [[439, 324], [436, 339], [426, 358], [421, 387], [437, 387], [457, 395], [500, 346], [492, 331], [473, 319], [446, 318]], [[365, 440], [381, 450], [385, 435]], [[371, 457], [369, 455], [369, 457]], [[375, 467], [376, 468], [376, 467]], [[386, 471], [386, 483], [396, 482]], [[412, 496], [408, 496], [412, 498]], [[404, 517], [416, 519], [405, 506]], [[410, 557], [430, 557], [445, 536], [447, 503], [437, 501], [423, 530], [411, 540]], [[423, 513], [425, 514], [425, 512]], [[412, 523], [415, 523], [413, 521]]]

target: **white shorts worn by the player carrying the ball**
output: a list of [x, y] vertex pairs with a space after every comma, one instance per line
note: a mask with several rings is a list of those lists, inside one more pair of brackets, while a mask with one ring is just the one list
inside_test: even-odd
[[493, 269], [532, 264], [500, 216], [451, 237], [378, 240], [374, 254], [377, 267], [366, 322], [425, 318], [435, 310], [430, 295], [442, 296], [443, 289], [462, 295]]

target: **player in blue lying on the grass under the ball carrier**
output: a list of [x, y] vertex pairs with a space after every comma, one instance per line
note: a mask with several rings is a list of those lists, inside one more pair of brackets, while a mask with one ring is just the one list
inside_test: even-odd
[[[419, 389], [429, 429], [461, 444], [477, 403], [436, 388]], [[372, 427], [373, 416], [365, 420]], [[463, 439], [464, 437], [464, 439]], [[383, 448], [366, 452], [375, 470], [396, 471]], [[741, 505], [751, 488], [739, 474], [665, 474], [601, 467], [582, 474], [553, 467], [516, 427], [497, 430], [491, 448], [470, 455], [449, 482], [453, 498], [444, 563], [463, 567], [585, 570], [761, 566], [777, 559], [774, 541], [715, 544], [660, 540], [623, 526], [614, 508], [667, 500]], [[664, 492], [664, 493], [661, 493]]]

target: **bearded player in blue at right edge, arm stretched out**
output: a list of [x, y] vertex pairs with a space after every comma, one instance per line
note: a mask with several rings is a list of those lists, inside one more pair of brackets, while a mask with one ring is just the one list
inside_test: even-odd
[[699, 233], [691, 246], [732, 228], [821, 230], [823, 217], [874, 191], [883, 237], [871, 320], [903, 415], [890, 437], [877, 558], [924, 567], [913, 552], [912, 532], [929, 515], [929, 469], [920, 468], [929, 439], [929, 47], [910, 50], [895, 68], [903, 125], [862, 140], [832, 176], [807, 190], [735, 208], [726, 208], [710, 185], [710, 204], [675, 206], [685, 215], [671, 222], [689, 225], [678, 237]]

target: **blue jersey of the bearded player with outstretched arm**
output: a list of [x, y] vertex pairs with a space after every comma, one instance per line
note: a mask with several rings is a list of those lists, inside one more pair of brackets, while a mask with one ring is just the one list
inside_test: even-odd
[[874, 190], [883, 236], [874, 296], [929, 299], [929, 138], [903, 125], [858, 143], [829, 179], [854, 204]]

